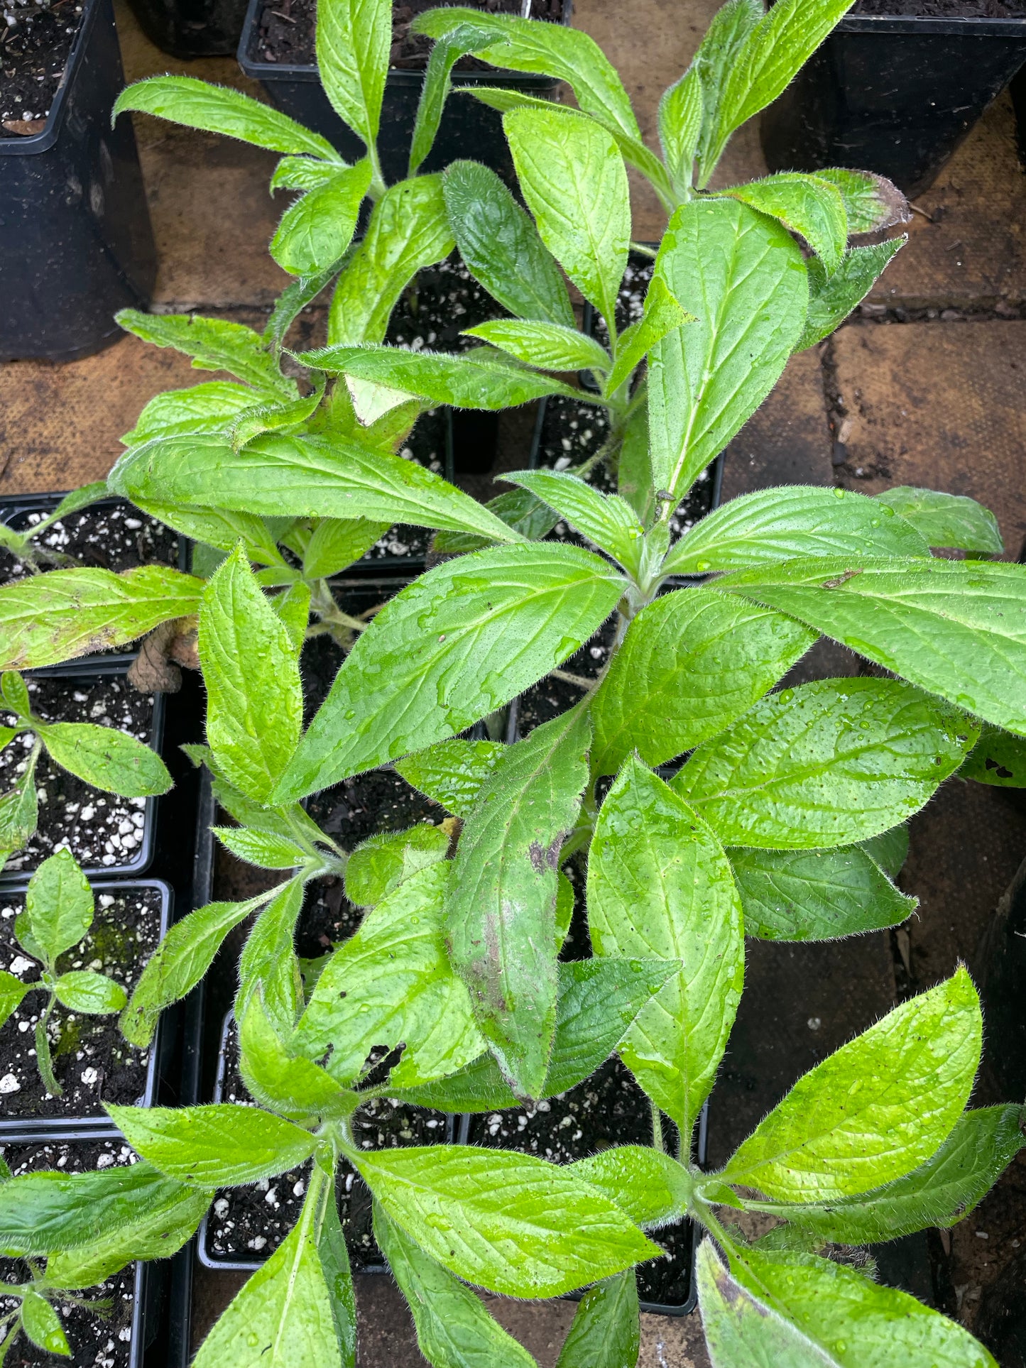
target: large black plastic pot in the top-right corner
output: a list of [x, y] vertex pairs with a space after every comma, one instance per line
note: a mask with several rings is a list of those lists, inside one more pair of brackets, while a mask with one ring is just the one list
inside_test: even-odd
[[877, 171], [907, 196], [1026, 62], [1026, 19], [848, 15], [762, 114], [770, 171]]

